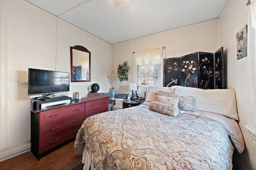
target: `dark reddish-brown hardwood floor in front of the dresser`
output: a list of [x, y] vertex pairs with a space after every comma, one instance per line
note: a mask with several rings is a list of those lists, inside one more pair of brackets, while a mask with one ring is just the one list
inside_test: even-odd
[[82, 152], [74, 150], [74, 141], [42, 157], [40, 161], [26, 152], [0, 162], [1, 170], [82, 170]]

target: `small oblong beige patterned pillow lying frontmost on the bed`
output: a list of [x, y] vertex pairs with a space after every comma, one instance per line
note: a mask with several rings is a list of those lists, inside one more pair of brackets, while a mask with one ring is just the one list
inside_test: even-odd
[[149, 109], [173, 117], [180, 115], [180, 109], [178, 106], [171, 106], [161, 102], [151, 102]]

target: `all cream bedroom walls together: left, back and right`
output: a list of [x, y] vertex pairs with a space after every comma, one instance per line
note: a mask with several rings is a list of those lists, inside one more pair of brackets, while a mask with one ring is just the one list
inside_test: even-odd
[[[92, 81], [70, 83], [69, 96], [79, 91], [82, 92], [82, 97], [90, 91], [92, 83], [100, 85], [99, 92], [108, 92], [110, 86], [106, 73], [111, 68], [116, 70], [118, 64], [123, 61], [128, 61], [132, 66], [134, 51], [164, 45], [166, 58], [170, 58], [196, 51], [215, 52], [223, 46], [228, 55], [228, 88], [234, 87], [236, 91], [239, 124], [246, 143], [246, 150], [240, 157], [249, 169], [256, 169], [256, 149], [243, 127], [247, 123], [248, 113], [247, 65], [250, 56], [236, 60], [235, 35], [247, 24], [246, 2], [247, 0], [229, 1], [219, 20], [206, 21], [111, 46], [65, 21], [56, 20], [51, 14], [24, 0], [0, 0], [0, 17], [6, 21], [4, 32], [7, 36], [5, 44], [1, 44], [1, 47], [6, 46], [6, 54], [1, 49], [1, 76], [4, 78], [6, 76], [7, 82], [1, 82], [6, 85], [6, 90], [1, 89], [0, 102], [1, 107], [6, 108], [0, 110], [0, 160], [3, 158], [3, 152], [30, 140], [28, 68], [48, 70], [56, 68], [57, 71], [70, 72], [70, 46], [82, 45], [91, 51]], [[91, 41], [87, 41], [87, 38]], [[6, 72], [4, 76], [2, 71]], [[3, 80], [2, 77], [0, 80]], [[130, 93], [128, 90], [130, 82], [132, 82], [132, 71], [129, 74], [129, 81], [118, 83], [116, 92]]]

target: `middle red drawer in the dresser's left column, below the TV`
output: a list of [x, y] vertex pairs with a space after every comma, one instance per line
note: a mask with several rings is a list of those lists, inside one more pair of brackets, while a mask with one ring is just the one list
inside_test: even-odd
[[39, 140], [45, 139], [84, 122], [84, 113], [40, 126]]

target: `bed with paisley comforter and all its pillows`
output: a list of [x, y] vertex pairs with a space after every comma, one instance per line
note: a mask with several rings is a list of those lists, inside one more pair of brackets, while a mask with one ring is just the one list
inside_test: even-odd
[[84, 170], [232, 170], [237, 120], [232, 89], [149, 87], [139, 106], [88, 117], [74, 149]]

